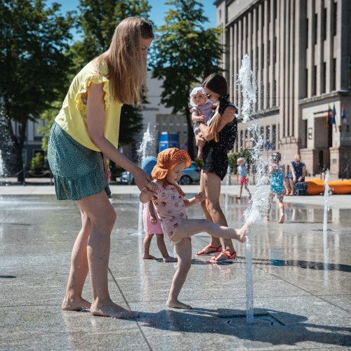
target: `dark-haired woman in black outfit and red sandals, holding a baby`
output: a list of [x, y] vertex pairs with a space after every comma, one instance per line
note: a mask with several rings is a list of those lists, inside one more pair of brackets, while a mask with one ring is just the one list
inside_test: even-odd
[[[227, 220], [220, 208], [220, 182], [227, 173], [227, 152], [232, 149], [237, 137], [237, 107], [228, 100], [227, 81], [220, 74], [209, 75], [202, 86], [206, 96], [217, 108], [207, 126], [200, 124], [201, 136], [197, 136], [197, 145], [204, 147], [200, 188], [206, 194], [206, 201], [201, 202], [201, 208], [206, 219], [227, 226]], [[237, 258], [230, 239], [211, 237], [211, 244], [197, 252], [197, 256], [209, 253], [217, 253], [211, 258], [213, 263], [230, 262]]]

